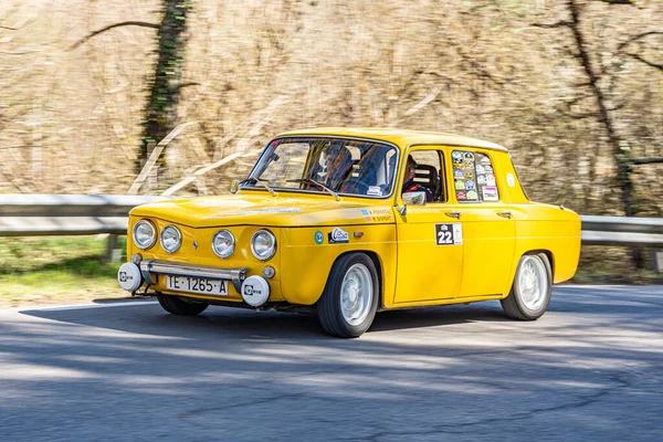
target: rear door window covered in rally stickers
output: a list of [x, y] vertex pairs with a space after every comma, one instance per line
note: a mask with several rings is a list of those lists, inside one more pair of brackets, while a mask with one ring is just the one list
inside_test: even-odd
[[487, 155], [454, 150], [453, 187], [459, 202], [499, 201], [493, 164]]

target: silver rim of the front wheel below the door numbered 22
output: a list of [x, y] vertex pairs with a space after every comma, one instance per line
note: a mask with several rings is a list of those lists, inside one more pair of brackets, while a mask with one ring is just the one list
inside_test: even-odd
[[355, 264], [340, 284], [340, 313], [351, 326], [366, 320], [372, 304], [372, 278], [364, 264]]

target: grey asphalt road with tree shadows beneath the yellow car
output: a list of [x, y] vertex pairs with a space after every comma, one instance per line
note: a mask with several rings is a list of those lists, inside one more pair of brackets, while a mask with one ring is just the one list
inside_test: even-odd
[[158, 304], [0, 311], [0, 441], [663, 440], [663, 287], [314, 316]]

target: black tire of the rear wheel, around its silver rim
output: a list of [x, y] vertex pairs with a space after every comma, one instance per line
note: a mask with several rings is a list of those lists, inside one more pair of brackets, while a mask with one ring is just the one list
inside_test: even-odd
[[[523, 271], [523, 264], [525, 261], [538, 261], [543, 264], [546, 273], [546, 282], [544, 282], [544, 295], [539, 302], [536, 303], [534, 308], [527, 305], [527, 302], [524, 297], [524, 287], [520, 287], [520, 272]], [[533, 261], [533, 262], [534, 262]], [[546, 313], [548, 309], [548, 305], [550, 304], [550, 296], [552, 294], [552, 271], [550, 269], [550, 262], [548, 261], [548, 256], [544, 253], [537, 254], [526, 254], [520, 257], [520, 262], [518, 262], [518, 269], [516, 270], [516, 275], [514, 276], [514, 283], [512, 285], [512, 290], [507, 297], [501, 299], [502, 308], [506, 316], [512, 319], [518, 320], [536, 320]]]

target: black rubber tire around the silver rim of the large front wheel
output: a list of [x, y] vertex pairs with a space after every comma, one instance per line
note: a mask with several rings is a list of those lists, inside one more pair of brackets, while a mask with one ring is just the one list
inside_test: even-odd
[[[368, 270], [372, 293], [370, 296], [370, 306], [367, 307], [368, 314], [366, 318], [358, 324], [350, 324], [343, 314], [340, 288], [344, 277], [356, 264], [359, 264], [359, 269]], [[334, 263], [325, 291], [316, 304], [320, 325], [332, 336], [340, 338], [356, 338], [361, 336], [368, 330], [376, 317], [379, 293], [378, 271], [370, 257], [364, 253], [348, 253], [340, 256]]]

